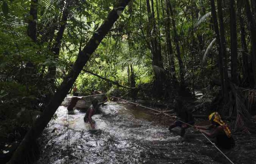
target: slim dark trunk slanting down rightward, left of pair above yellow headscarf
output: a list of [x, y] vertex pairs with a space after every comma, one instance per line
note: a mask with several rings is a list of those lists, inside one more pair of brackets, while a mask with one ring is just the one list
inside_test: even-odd
[[222, 96], [224, 96], [224, 74], [223, 74], [223, 57], [221, 51], [221, 43], [220, 43], [220, 32], [215, 8], [214, 0], [211, 0], [211, 11], [212, 11], [212, 21], [214, 25], [215, 37], [217, 41], [217, 49], [218, 49], [218, 67], [220, 70], [220, 81], [221, 81], [221, 88], [222, 88]]

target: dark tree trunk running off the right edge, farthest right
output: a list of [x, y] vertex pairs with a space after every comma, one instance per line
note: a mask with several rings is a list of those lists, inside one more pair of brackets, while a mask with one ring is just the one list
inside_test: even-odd
[[253, 70], [254, 81], [251, 82], [251, 86], [256, 87], [256, 29], [255, 29], [256, 26], [255, 26], [255, 21], [252, 17], [249, 0], [244, 0], [244, 8], [246, 11], [246, 17], [248, 20], [248, 27], [249, 27], [251, 42], [252, 42], [252, 70]]

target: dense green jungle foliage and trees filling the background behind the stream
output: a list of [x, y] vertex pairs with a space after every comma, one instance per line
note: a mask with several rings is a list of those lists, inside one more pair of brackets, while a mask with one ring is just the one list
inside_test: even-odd
[[[0, 141], [24, 137], [67, 77], [74, 77], [69, 93], [76, 86], [83, 96], [170, 103], [200, 91], [198, 103], [208, 105], [198, 110], [214, 107], [244, 125], [254, 112], [255, 0], [130, 0], [124, 12], [115, 4], [0, 1]], [[120, 17], [98, 34], [104, 39], [95, 41], [78, 78], [68, 76], [112, 10]]]

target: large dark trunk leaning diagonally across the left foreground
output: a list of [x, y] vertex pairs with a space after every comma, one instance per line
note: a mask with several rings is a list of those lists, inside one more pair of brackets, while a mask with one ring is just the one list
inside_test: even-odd
[[114, 22], [118, 19], [120, 13], [124, 10], [129, 0], [120, 0], [113, 8], [113, 10], [108, 14], [108, 18], [102, 23], [100, 28], [92, 35], [88, 44], [84, 47], [82, 51], [79, 52], [78, 58], [74, 63], [73, 69], [70, 71], [68, 76], [64, 79], [57, 92], [54, 94], [52, 100], [48, 105], [46, 105], [44, 112], [32, 125], [31, 129], [28, 131], [17, 150], [14, 152], [11, 160], [8, 164], [20, 164], [24, 161], [26, 157], [27, 148], [31, 147], [34, 141], [46, 127], [48, 122], [52, 119], [52, 116], [58, 109], [61, 102], [64, 100], [68, 91], [74, 84], [74, 81], [78, 77], [84, 65], [90, 59], [92, 53], [96, 50], [102, 39], [111, 29]]

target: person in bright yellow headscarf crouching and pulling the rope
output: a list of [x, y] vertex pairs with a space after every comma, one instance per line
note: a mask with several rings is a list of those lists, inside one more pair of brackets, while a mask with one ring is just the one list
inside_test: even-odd
[[[206, 134], [210, 138], [215, 138], [215, 143], [222, 148], [232, 148], [235, 144], [228, 125], [224, 123], [218, 112], [213, 112], [209, 115], [209, 120], [212, 122], [208, 127], [194, 126], [200, 132]], [[210, 130], [210, 131], [208, 131]]]

